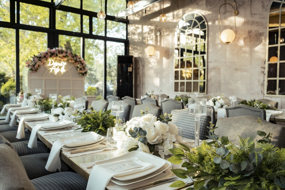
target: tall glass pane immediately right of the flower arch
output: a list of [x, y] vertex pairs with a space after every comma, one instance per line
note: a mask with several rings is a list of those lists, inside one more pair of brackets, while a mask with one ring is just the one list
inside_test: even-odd
[[[85, 61], [88, 74], [85, 77], [85, 91], [89, 86], [96, 87], [94, 95], [103, 95], [104, 81], [104, 41], [85, 39]], [[92, 95], [92, 94], [86, 94]]]

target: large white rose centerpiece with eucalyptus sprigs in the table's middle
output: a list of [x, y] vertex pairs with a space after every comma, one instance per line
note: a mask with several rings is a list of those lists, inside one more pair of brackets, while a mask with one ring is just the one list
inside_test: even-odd
[[118, 127], [114, 134], [117, 141], [117, 155], [126, 154], [133, 150], [154, 154], [157, 151], [161, 158], [169, 155], [168, 149], [173, 143], [182, 142], [178, 135], [178, 127], [171, 122], [171, 115], [160, 115], [142, 112], [141, 117], [133, 117], [125, 125]]

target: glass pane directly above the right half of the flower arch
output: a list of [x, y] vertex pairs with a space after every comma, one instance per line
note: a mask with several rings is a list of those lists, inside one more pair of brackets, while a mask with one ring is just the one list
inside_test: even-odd
[[66, 49], [74, 54], [81, 55], [81, 38], [74, 36], [58, 35], [60, 48]]

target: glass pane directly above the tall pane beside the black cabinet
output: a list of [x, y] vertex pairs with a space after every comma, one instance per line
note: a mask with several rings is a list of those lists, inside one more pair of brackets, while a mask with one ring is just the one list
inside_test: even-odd
[[127, 38], [127, 24], [107, 20], [107, 37]]

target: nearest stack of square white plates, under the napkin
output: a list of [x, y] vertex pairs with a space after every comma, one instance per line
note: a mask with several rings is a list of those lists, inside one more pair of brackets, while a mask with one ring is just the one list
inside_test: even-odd
[[131, 158], [137, 157], [142, 162], [151, 163], [153, 167], [146, 169], [141, 172], [132, 173], [130, 175], [123, 175], [118, 177], [112, 177], [111, 181], [117, 185], [131, 185], [133, 183], [137, 183], [140, 181], [144, 181], [146, 179], [150, 179], [163, 171], [165, 171], [168, 167], [171, 166], [171, 163], [167, 160], [164, 160], [158, 156], [154, 156], [152, 154], [147, 154], [141, 151], [132, 151], [128, 154], [123, 156], [119, 156], [116, 158], [111, 158], [108, 160], [102, 160], [96, 162], [95, 164], [105, 164], [105, 163], [112, 163], [120, 160], [128, 160]]

